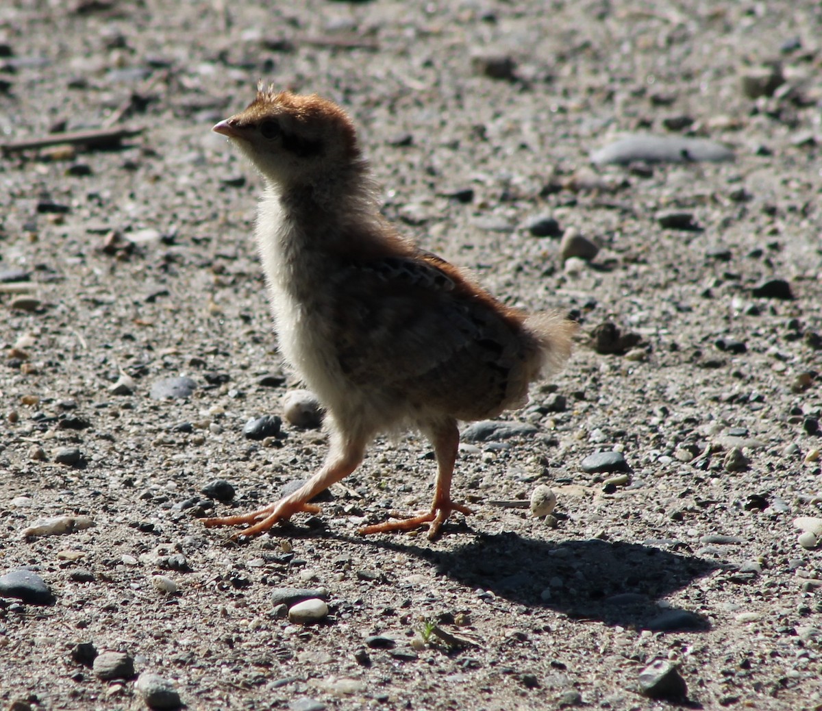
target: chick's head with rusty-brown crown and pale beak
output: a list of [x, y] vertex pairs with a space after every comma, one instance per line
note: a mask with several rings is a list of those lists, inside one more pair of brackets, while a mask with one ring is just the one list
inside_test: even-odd
[[257, 88], [256, 99], [213, 129], [228, 136], [270, 182], [294, 187], [321, 182], [360, 158], [353, 123], [316, 94]]

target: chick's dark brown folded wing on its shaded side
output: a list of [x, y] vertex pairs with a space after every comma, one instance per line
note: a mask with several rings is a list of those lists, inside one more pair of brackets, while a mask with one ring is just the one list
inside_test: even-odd
[[520, 317], [445, 261], [426, 253], [357, 261], [338, 289], [335, 344], [350, 381], [464, 419], [522, 398], [533, 349]]

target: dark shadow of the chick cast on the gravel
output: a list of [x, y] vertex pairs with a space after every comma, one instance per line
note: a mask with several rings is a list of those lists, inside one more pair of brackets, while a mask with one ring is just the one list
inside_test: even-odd
[[640, 543], [549, 542], [516, 533], [480, 534], [473, 542], [449, 551], [396, 541], [376, 545], [428, 561], [437, 574], [482, 589], [481, 598], [502, 598], [637, 630], [709, 629], [704, 616], [659, 604], [667, 595], [717, 570], [715, 562], [700, 557]]

